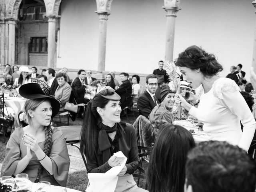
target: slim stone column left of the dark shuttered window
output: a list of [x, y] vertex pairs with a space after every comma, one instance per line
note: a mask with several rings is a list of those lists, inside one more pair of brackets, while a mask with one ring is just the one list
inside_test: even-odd
[[15, 20], [8, 21], [8, 64], [15, 64]]

